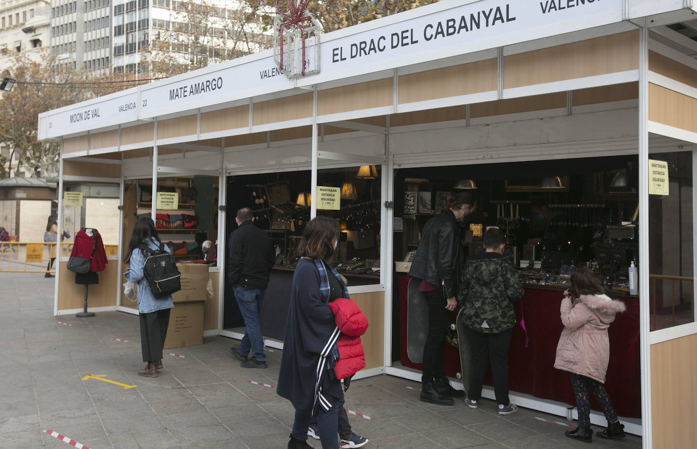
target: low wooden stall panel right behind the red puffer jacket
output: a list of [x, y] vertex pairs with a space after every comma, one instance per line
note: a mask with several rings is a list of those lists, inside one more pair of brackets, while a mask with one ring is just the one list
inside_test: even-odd
[[365, 369], [384, 366], [385, 293], [355, 293], [351, 299], [368, 318], [368, 330], [360, 337], [365, 352]]

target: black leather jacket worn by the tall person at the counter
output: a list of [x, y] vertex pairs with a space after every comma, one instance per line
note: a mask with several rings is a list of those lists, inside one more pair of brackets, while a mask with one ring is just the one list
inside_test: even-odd
[[409, 276], [442, 285], [448, 298], [456, 296], [460, 279], [459, 236], [460, 228], [450, 209], [427, 221]]

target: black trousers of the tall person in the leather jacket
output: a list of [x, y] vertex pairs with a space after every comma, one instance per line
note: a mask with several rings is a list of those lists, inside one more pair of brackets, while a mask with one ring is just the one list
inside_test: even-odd
[[447, 331], [447, 317], [450, 310], [445, 308], [447, 300], [443, 298], [441, 289], [424, 292], [429, 306], [429, 333], [424, 342], [423, 375], [424, 379], [445, 376], [443, 369], [443, 342]]

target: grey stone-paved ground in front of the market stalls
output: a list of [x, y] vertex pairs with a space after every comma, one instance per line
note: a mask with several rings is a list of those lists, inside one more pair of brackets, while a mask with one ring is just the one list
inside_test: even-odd
[[[185, 358], [165, 355], [158, 378], [139, 377], [137, 316], [54, 317], [53, 292], [52, 279], [0, 273], [0, 448], [69, 447], [45, 430], [92, 449], [286, 447], [293, 407], [274, 388], [249, 382], [275, 386], [278, 349], [267, 353], [268, 369], [253, 370], [229, 355], [237, 340], [206, 338], [200, 346], [167, 349]], [[365, 448], [589, 447], [565, 438], [567, 427], [535, 419], [564, 422], [558, 416], [529, 409], [498, 416], [489, 400], [477, 410], [461, 400], [426, 404], [407, 388], [419, 386], [387, 375], [352, 382], [346, 407], [372, 418], [349, 418], [370, 440]], [[641, 438], [593, 444], [641, 448]]]

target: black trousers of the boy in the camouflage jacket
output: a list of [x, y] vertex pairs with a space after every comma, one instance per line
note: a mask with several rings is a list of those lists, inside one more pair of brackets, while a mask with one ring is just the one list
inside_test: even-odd
[[482, 397], [482, 383], [491, 361], [493, 377], [493, 393], [498, 404], [508, 405], [508, 351], [511, 347], [513, 329], [500, 333], [483, 333], [467, 329], [470, 343], [472, 368], [470, 369], [470, 390], [467, 392], [471, 399]]

